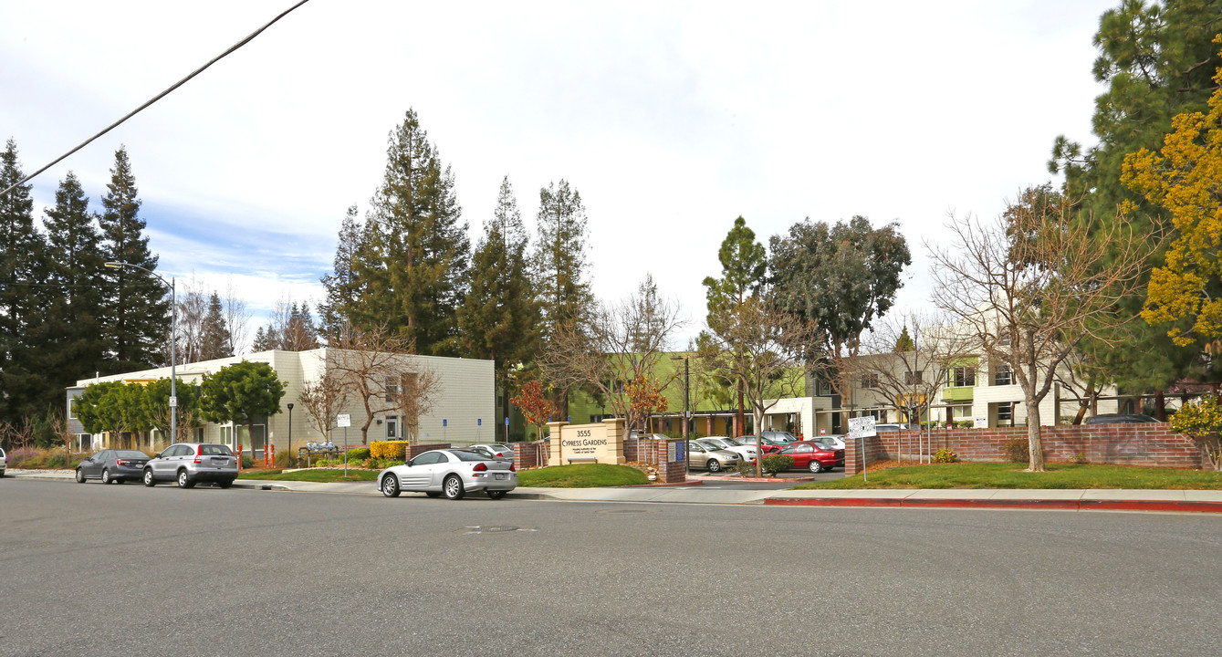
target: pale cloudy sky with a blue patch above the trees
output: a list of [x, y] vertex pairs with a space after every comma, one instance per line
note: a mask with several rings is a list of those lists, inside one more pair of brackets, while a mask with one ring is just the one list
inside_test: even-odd
[[[32, 172], [295, 0], [0, 4], [0, 139]], [[534, 234], [567, 180], [595, 294], [653, 275], [701, 328], [737, 216], [897, 221], [929, 305], [948, 214], [992, 217], [1047, 181], [1058, 134], [1094, 143], [1091, 37], [1119, 0], [418, 2], [312, 0], [32, 181], [68, 171], [100, 210], [127, 148], [158, 271], [253, 311], [324, 298], [340, 221], [381, 182], [414, 109], [452, 167], [472, 244], [508, 176]], [[189, 283], [188, 283], [189, 285]]]

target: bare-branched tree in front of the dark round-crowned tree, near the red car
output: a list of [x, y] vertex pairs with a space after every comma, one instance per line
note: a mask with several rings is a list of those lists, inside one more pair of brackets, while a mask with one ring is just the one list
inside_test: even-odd
[[[756, 429], [777, 399], [800, 394], [810, 371], [804, 357], [815, 338], [811, 322], [782, 313], [767, 297], [750, 297], [728, 309], [717, 331], [700, 335], [706, 375], [738, 387], [752, 408]], [[763, 454], [760, 454], [763, 457]], [[763, 471], [756, 459], [755, 471]]]

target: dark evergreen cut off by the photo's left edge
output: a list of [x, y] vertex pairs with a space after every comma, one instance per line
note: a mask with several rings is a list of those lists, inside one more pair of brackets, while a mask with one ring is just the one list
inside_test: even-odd
[[[23, 177], [17, 144], [10, 139], [0, 154], [0, 188]], [[46, 410], [45, 243], [34, 230], [29, 192], [23, 184], [0, 194], [0, 419], [5, 420]]]

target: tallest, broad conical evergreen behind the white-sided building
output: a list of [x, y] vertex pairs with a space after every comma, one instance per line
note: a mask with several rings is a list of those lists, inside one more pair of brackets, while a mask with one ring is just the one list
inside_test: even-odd
[[470, 255], [461, 215], [453, 175], [408, 110], [390, 136], [385, 177], [352, 266], [364, 286], [353, 324], [370, 328], [389, 322], [414, 342], [415, 353], [458, 352], [457, 308]]

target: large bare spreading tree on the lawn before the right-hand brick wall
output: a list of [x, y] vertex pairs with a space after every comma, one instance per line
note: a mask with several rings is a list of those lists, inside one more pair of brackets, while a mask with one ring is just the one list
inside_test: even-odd
[[951, 215], [951, 248], [926, 242], [934, 303], [1023, 388], [1030, 463], [1044, 471], [1040, 402], [1088, 336], [1113, 343], [1133, 316], [1117, 303], [1138, 287], [1145, 236], [1123, 215], [1074, 216], [1047, 187], [1029, 188], [996, 221]]

